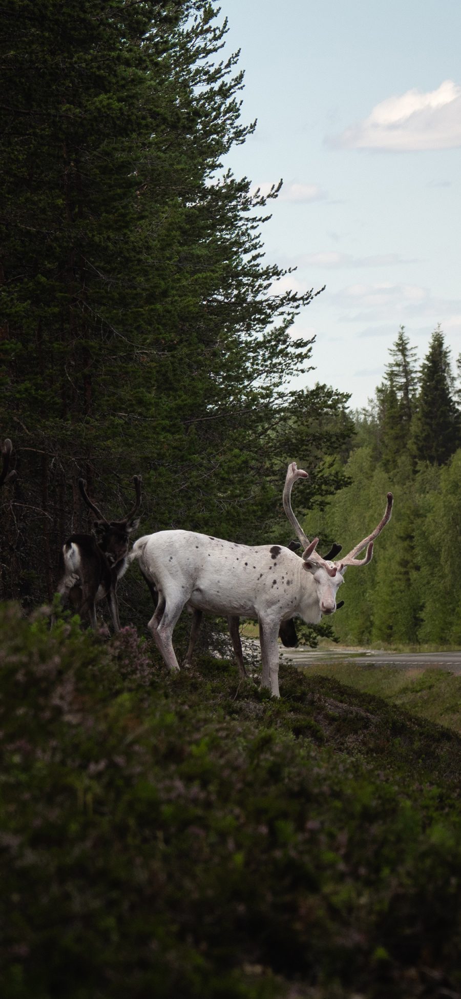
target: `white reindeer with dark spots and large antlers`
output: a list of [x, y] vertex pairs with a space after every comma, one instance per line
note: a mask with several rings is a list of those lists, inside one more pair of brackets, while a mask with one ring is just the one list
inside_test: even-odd
[[[307, 623], [318, 623], [322, 614], [334, 612], [344, 569], [370, 561], [373, 540], [392, 509], [392, 494], [388, 493], [386, 511], [377, 527], [340, 560], [325, 561], [315, 551], [318, 537], [308, 541], [289, 501], [292, 484], [306, 475], [293, 462], [283, 493], [285, 512], [299, 538], [307, 542], [301, 558], [279, 544], [234, 544], [192, 530], [160, 530], [135, 541], [127, 562], [138, 559], [143, 575], [159, 594], [148, 627], [172, 671], [180, 668], [172, 637], [183, 607], [250, 617], [259, 623], [261, 684], [279, 697], [280, 622], [299, 616]], [[365, 547], [366, 555], [357, 558]]]

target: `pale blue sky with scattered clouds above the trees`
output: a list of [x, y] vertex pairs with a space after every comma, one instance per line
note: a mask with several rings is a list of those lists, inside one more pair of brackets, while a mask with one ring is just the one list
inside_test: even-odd
[[[283, 288], [316, 291], [293, 337], [361, 408], [399, 328], [419, 361], [440, 324], [461, 353], [460, 0], [222, 0], [254, 135], [227, 166], [262, 191]], [[281, 288], [281, 283], [280, 283]]]

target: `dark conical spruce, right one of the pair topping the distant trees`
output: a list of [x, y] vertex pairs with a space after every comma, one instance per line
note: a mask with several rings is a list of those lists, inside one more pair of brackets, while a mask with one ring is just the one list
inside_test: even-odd
[[450, 350], [440, 327], [434, 331], [421, 366], [417, 413], [412, 428], [416, 457], [444, 465], [460, 441], [459, 413], [453, 399]]

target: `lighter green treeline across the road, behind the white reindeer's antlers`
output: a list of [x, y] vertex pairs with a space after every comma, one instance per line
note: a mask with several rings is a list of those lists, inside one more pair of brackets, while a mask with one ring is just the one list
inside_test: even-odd
[[374, 399], [356, 414], [356, 446], [343, 467], [350, 485], [324, 512], [311, 511], [307, 532], [320, 524], [323, 538], [347, 550], [390, 490], [392, 520], [366, 569], [347, 572], [334, 630], [353, 643], [459, 644], [461, 412], [450, 351], [438, 328], [418, 366], [402, 327], [389, 353]]

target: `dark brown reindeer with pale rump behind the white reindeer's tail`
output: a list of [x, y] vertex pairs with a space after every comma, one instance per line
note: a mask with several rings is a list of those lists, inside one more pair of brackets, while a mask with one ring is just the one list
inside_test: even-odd
[[72, 534], [60, 552], [58, 593], [64, 602], [85, 616], [96, 628], [96, 604], [106, 597], [114, 630], [120, 631], [117, 583], [124, 575], [130, 534], [139, 524], [136, 516], [141, 505], [141, 476], [134, 476], [136, 501], [122, 520], [107, 520], [87, 496], [85, 482], [79, 479], [79, 489], [87, 506], [98, 516], [93, 534]]

